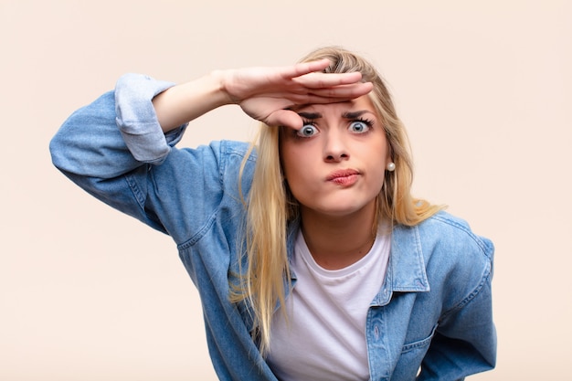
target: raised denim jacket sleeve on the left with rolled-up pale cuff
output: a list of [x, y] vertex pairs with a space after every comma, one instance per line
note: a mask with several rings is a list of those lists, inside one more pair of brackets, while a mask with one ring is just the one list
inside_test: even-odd
[[146, 213], [144, 196], [130, 178], [144, 177], [162, 164], [185, 131], [183, 125], [164, 134], [154, 113], [154, 96], [171, 86], [127, 74], [115, 90], [71, 114], [49, 145], [53, 164], [74, 183], [162, 231], [157, 218]]

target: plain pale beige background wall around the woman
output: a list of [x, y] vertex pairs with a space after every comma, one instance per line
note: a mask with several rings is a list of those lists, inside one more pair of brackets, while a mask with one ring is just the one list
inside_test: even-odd
[[[473, 379], [572, 379], [570, 4], [1, 0], [0, 379], [216, 379], [170, 238], [59, 175], [48, 141], [124, 72], [180, 82], [326, 44], [387, 78], [416, 195], [496, 244], [498, 367]], [[227, 107], [183, 144], [253, 124]]]

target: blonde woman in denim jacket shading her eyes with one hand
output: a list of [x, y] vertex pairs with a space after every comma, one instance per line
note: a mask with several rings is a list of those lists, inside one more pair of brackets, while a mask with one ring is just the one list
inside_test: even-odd
[[[262, 122], [256, 146], [175, 148], [231, 103]], [[495, 364], [493, 245], [410, 195], [404, 127], [349, 51], [181, 85], [126, 75], [50, 149], [175, 240], [222, 380], [459, 380]]]

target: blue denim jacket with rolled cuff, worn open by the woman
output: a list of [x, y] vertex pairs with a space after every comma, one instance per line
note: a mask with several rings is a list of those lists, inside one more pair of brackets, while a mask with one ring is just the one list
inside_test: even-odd
[[[123, 76], [63, 124], [50, 143], [53, 163], [91, 195], [175, 240], [202, 300], [221, 380], [276, 380], [251, 338], [248, 308], [228, 302], [245, 217], [238, 173], [248, 145], [175, 148], [186, 126], [165, 135], [151, 103], [170, 86]], [[245, 194], [255, 161], [253, 153]], [[290, 250], [296, 229], [291, 224]], [[493, 244], [447, 213], [396, 226], [386, 280], [367, 313], [371, 380], [460, 380], [493, 368], [492, 260]]]

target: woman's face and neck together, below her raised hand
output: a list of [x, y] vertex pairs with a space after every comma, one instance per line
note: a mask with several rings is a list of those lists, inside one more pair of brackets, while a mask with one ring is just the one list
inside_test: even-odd
[[304, 127], [282, 129], [282, 170], [301, 204], [313, 258], [341, 269], [363, 258], [375, 239], [376, 196], [390, 161], [386, 133], [366, 95], [296, 111]]

